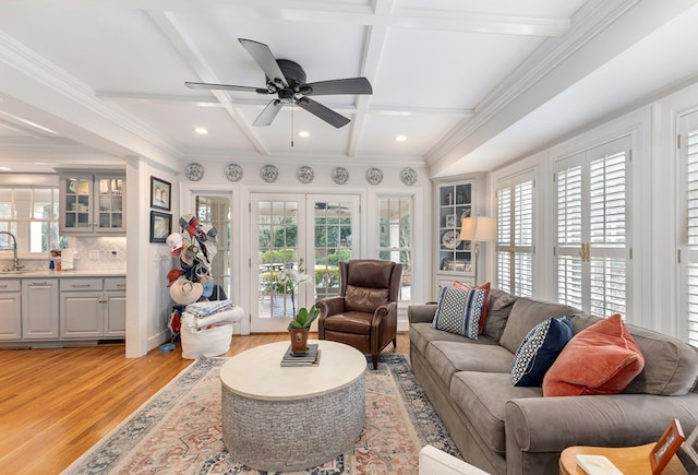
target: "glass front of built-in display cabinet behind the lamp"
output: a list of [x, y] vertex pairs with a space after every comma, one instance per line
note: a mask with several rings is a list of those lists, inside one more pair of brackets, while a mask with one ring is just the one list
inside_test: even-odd
[[472, 183], [440, 185], [438, 205], [438, 257], [436, 261], [436, 284], [452, 285], [454, 281], [471, 284], [474, 275], [471, 242], [460, 239], [464, 218], [473, 210]]

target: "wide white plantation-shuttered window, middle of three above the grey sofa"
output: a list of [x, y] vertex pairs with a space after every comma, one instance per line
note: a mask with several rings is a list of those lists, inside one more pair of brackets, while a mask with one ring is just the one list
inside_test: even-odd
[[557, 299], [591, 313], [627, 313], [630, 138], [556, 164]]

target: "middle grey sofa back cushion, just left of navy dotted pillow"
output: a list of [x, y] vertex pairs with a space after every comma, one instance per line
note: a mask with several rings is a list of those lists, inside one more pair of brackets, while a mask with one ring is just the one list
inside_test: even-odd
[[528, 332], [551, 317], [564, 317], [576, 313], [579, 310], [549, 301], [534, 300], [528, 297], [519, 297], [512, 307], [512, 312], [502, 333], [500, 344], [512, 353], [516, 353]]

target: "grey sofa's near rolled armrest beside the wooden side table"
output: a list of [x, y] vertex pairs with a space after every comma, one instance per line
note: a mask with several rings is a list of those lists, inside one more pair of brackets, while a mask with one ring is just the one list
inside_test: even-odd
[[582, 395], [506, 403], [506, 453], [561, 452], [570, 446], [629, 447], [659, 440], [676, 417], [698, 425], [698, 394]]

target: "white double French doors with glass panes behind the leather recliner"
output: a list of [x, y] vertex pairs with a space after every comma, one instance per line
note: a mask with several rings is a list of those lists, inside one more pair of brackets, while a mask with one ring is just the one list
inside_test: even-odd
[[[300, 307], [337, 295], [338, 263], [360, 256], [359, 213], [359, 195], [251, 195], [251, 332], [286, 331]], [[312, 283], [284, 282], [292, 271]]]

